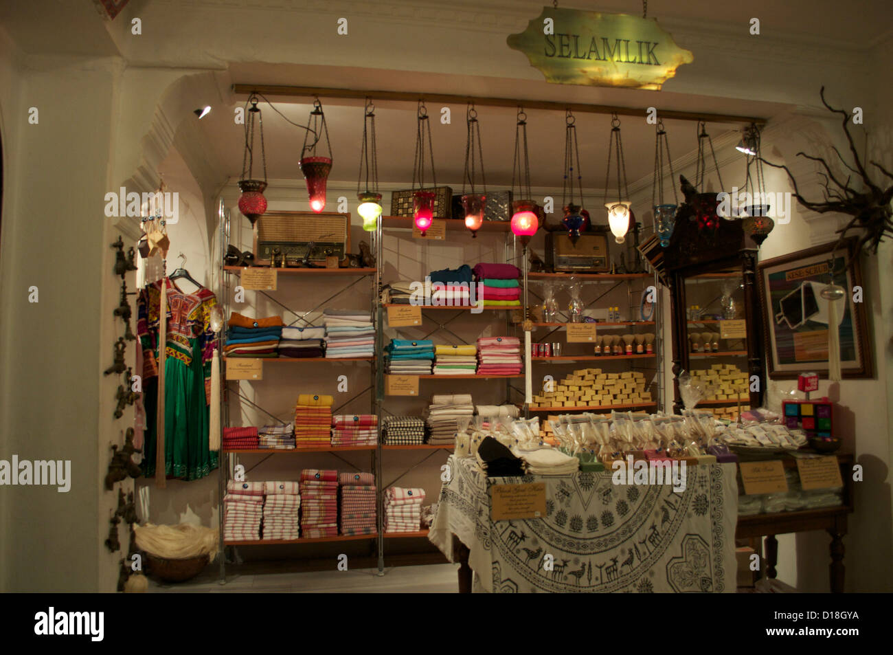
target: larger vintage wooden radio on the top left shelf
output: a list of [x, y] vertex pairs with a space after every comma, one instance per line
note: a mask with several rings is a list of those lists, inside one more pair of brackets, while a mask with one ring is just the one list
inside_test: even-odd
[[270, 265], [276, 252], [289, 262], [303, 259], [325, 265], [327, 256], [344, 259], [350, 251], [350, 214], [323, 212], [267, 212], [255, 225], [255, 265]]

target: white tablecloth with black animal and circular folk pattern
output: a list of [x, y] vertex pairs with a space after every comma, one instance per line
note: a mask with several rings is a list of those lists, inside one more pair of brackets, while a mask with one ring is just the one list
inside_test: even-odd
[[[455, 455], [447, 466], [429, 539], [450, 561], [454, 534], [468, 547], [476, 591], [735, 592], [734, 464], [688, 466], [680, 492], [617, 485], [609, 471], [488, 478]], [[491, 520], [490, 488], [526, 483], [546, 483], [546, 516]]]

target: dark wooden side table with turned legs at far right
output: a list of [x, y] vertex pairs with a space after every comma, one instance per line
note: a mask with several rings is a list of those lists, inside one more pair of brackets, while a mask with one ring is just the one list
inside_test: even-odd
[[[776, 512], [739, 516], [735, 537], [747, 539], [765, 537], [764, 558], [766, 575], [774, 578], [778, 564], [779, 542], [776, 534], [805, 533], [824, 530], [830, 534], [830, 565], [828, 573], [832, 593], [843, 593], [843, 536], [847, 533], [847, 515], [853, 512], [853, 455], [839, 453], [840, 476], [843, 478], [843, 505], [836, 508], [805, 509], [797, 512]], [[785, 468], [797, 466], [794, 458], [782, 458]]]

